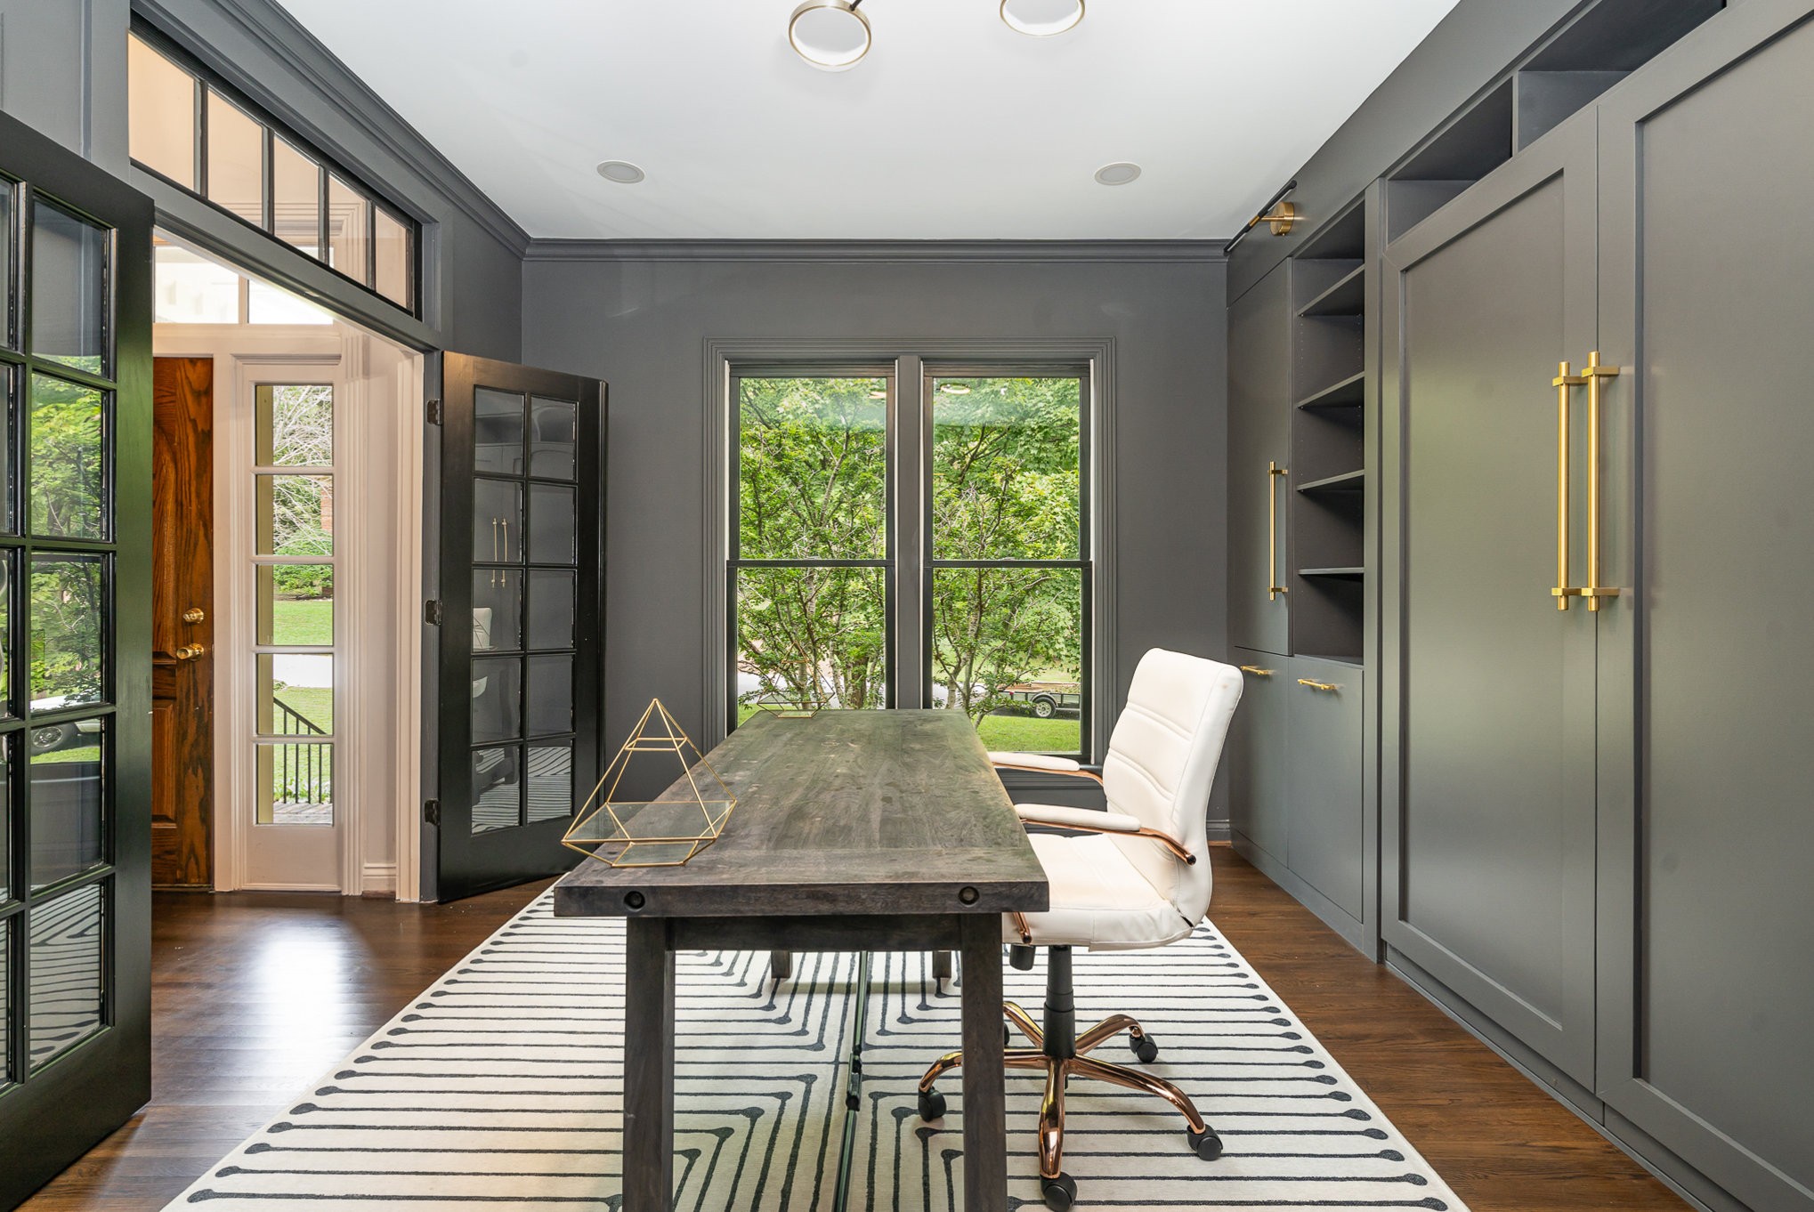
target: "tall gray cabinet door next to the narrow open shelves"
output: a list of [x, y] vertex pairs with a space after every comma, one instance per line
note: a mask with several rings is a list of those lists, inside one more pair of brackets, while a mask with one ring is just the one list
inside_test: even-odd
[[1556, 127], [1388, 249], [1380, 408], [1404, 459], [1384, 499], [1382, 934], [1582, 1085], [1596, 615], [1551, 595], [1551, 381], [1593, 350], [1593, 136], [1591, 114]]

